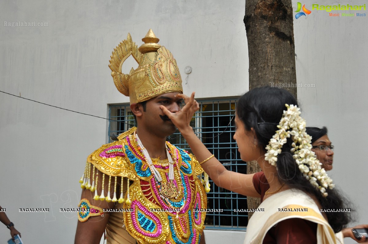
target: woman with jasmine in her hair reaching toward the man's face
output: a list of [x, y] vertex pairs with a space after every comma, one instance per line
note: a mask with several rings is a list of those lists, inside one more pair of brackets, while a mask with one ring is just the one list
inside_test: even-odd
[[[182, 112], [173, 114], [162, 109], [197, 159], [203, 161], [202, 168], [216, 185], [260, 197], [252, 175], [227, 171], [193, 133], [189, 121], [198, 103], [194, 94], [185, 100]], [[245, 93], [238, 102], [235, 126], [234, 139], [241, 159], [257, 160], [269, 183], [259, 206], [265, 212], [252, 216], [244, 243], [342, 242], [342, 236], [337, 238], [335, 233], [349, 222], [349, 216], [346, 212], [321, 213], [320, 209], [345, 208], [344, 199], [333, 189], [332, 180], [311, 150], [311, 137], [305, 132], [305, 120], [293, 95], [272, 87]]]

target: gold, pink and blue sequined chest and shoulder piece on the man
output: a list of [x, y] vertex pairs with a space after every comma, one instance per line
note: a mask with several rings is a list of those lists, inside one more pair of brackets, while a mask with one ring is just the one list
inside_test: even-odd
[[[123, 208], [131, 209], [132, 212], [122, 212], [123, 222], [138, 243], [199, 243], [205, 212], [193, 210], [207, 207], [202, 183], [209, 185], [208, 176], [202, 176], [204, 171], [194, 156], [169, 142], [167, 160], [151, 159], [135, 130], [134, 127], [118, 136], [119, 141], [103, 145], [88, 157], [81, 187], [95, 191], [95, 200], [117, 201], [123, 203]], [[102, 181], [98, 180], [98, 171], [103, 173]], [[117, 199], [118, 176], [121, 185]], [[102, 187], [105, 177], [109, 177], [107, 196]], [[130, 181], [124, 180], [125, 197], [124, 177], [133, 181], [129, 185]]]

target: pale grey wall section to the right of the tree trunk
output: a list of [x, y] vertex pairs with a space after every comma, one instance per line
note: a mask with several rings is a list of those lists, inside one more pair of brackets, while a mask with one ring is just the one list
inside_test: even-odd
[[[294, 10], [296, 2], [293, 1]], [[351, 200], [357, 223], [368, 223], [368, 197], [361, 186], [368, 185], [367, 144], [368, 106], [368, 16], [329, 17], [329, 12], [312, 10], [323, 5], [366, 5], [367, 1], [304, 1], [312, 11], [294, 19], [297, 80], [315, 83], [315, 88], [298, 88], [307, 126], [326, 126], [335, 145], [333, 170], [336, 185]], [[354, 225], [355, 223], [352, 223]], [[345, 238], [346, 243], [356, 243]]]

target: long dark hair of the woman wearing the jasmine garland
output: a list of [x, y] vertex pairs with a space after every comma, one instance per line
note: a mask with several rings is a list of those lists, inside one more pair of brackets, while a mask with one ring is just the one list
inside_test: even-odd
[[[245, 130], [254, 129], [258, 146], [264, 153], [266, 145], [278, 130], [276, 125], [279, 124], [283, 111], [286, 110], [285, 104], [298, 105], [290, 92], [276, 87], [254, 88], [241, 96], [238, 101], [237, 116], [245, 124]], [[291, 143], [291, 138], [288, 138], [282, 147], [282, 153], [277, 158], [276, 168], [279, 181], [284, 182], [290, 188], [300, 189], [315, 196], [323, 209], [345, 208], [346, 199], [336, 189], [326, 189], [328, 196], [324, 197], [302, 175], [290, 152]], [[342, 230], [351, 219], [347, 212], [325, 212], [325, 214], [335, 232]]]

